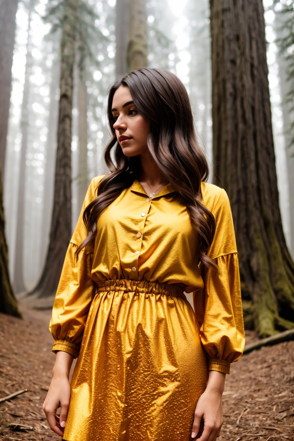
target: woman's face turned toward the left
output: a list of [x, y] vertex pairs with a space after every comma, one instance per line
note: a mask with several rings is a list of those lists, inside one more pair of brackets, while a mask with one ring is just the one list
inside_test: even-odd
[[146, 151], [150, 123], [139, 115], [128, 86], [119, 86], [112, 100], [113, 128], [126, 156], [141, 155]]

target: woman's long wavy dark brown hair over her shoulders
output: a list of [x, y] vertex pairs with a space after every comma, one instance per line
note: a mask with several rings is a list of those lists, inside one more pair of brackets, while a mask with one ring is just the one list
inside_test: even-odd
[[[200, 235], [199, 258], [203, 265], [216, 268], [206, 256], [212, 243], [216, 223], [210, 211], [201, 203], [201, 180], [208, 178], [208, 164], [194, 130], [188, 94], [182, 82], [171, 72], [141, 68], [115, 82], [108, 97], [108, 120], [112, 139], [104, 152], [111, 173], [104, 176], [97, 197], [83, 213], [88, 235], [78, 246], [75, 256], [97, 234], [97, 218], [126, 188], [134, 182], [141, 169], [140, 157], [127, 157], [120, 147], [113, 124], [112, 99], [119, 86], [128, 86], [138, 113], [150, 123], [147, 150], [162, 171], [166, 182], [181, 195], [190, 220]], [[115, 164], [111, 158], [115, 147]]]

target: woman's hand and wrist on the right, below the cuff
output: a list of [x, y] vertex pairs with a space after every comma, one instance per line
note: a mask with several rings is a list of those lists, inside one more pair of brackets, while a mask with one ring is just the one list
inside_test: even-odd
[[[207, 387], [196, 406], [192, 439], [197, 437], [198, 441], [216, 441], [216, 438], [220, 436], [220, 429], [223, 424], [222, 394], [225, 377], [226, 374], [216, 370], [209, 371]], [[199, 434], [202, 418], [204, 420], [204, 430], [202, 434]]]

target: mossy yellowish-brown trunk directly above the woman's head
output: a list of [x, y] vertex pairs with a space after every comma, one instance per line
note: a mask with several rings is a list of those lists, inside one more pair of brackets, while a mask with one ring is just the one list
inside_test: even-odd
[[130, 0], [130, 36], [127, 44], [129, 71], [147, 66], [147, 17], [145, 0]]

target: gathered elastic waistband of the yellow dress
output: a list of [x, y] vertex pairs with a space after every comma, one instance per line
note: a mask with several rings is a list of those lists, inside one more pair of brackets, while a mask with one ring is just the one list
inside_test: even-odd
[[183, 283], [167, 284], [159, 282], [147, 282], [144, 280], [104, 280], [97, 283], [97, 292], [123, 291], [142, 294], [172, 295], [173, 297], [186, 298]]

